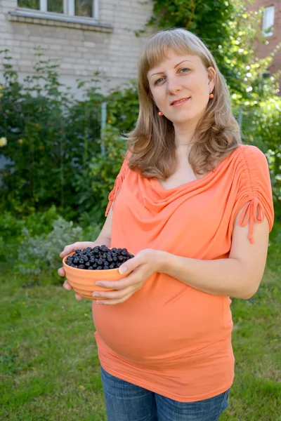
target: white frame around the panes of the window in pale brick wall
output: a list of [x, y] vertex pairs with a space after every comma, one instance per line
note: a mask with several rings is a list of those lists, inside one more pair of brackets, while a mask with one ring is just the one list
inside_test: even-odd
[[[17, 1], [18, 4], [18, 1]], [[38, 17], [43, 17], [43, 15], [48, 14], [48, 16], [61, 17], [65, 18], [76, 18], [79, 20], [98, 20], [98, 0], [92, 0], [93, 4], [93, 16], [81, 16], [75, 15], [75, 0], [63, 0], [63, 13], [55, 13], [48, 11], [48, 0], [39, 0], [39, 9], [24, 8], [18, 6], [18, 10], [25, 11], [26, 13], [30, 12]]]

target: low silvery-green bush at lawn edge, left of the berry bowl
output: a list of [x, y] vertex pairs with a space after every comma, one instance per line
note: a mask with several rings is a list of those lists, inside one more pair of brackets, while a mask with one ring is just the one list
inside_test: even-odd
[[28, 282], [38, 283], [44, 274], [58, 281], [59, 255], [65, 245], [95, 241], [100, 234], [101, 225], [87, 216], [81, 215], [77, 225], [59, 215], [55, 206], [23, 218], [6, 211], [0, 218], [0, 262], [12, 265]]

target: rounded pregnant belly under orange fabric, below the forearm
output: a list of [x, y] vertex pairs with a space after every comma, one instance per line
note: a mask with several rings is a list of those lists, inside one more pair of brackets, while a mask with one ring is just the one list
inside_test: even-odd
[[146, 367], [174, 365], [183, 354], [199, 356], [208, 343], [222, 340], [224, 298], [177, 283], [173, 294], [142, 289], [119, 305], [93, 302], [93, 322], [108, 349]]

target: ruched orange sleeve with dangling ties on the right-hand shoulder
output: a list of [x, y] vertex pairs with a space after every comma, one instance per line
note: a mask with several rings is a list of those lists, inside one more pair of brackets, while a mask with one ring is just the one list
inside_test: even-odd
[[235, 214], [242, 209], [239, 225], [249, 224], [248, 238], [254, 243], [254, 222], [268, 219], [269, 230], [273, 227], [274, 210], [270, 173], [266, 156], [258, 147], [245, 146], [240, 165], [240, 187], [237, 192]]

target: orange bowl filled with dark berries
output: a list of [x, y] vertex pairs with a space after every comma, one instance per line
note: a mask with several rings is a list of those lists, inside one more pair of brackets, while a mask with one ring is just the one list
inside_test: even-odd
[[126, 248], [108, 248], [107, 246], [87, 247], [76, 250], [63, 258], [63, 269], [68, 283], [74, 291], [84, 298], [92, 297], [94, 290], [107, 290], [96, 286], [96, 281], [119, 281], [127, 275], [119, 274], [119, 267], [134, 255]]

